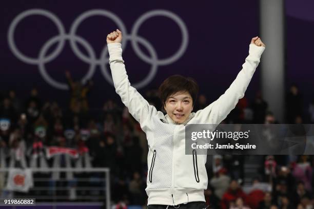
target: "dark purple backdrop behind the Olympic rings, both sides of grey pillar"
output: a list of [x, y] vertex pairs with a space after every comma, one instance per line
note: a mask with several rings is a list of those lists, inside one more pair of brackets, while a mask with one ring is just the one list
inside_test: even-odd
[[[303, 14], [304, 8], [308, 8], [308, 6], [298, 8], [295, 5], [298, 3], [293, 3], [291, 0], [286, 4], [287, 83], [295, 81], [300, 83], [302, 90], [308, 90], [313, 75], [311, 61], [313, 43], [309, 40], [314, 37], [314, 18], [310, 12], [307, 18], [298, 16], [298, 14]], [[312, 3], [301, 1], [300, 4]], [[128, 33], [135, 20], [149, 10], [166, 9], [179, 15], [188, 28], [188, 48], [173, 64], [159, 66], [154, 79], [146, 88], [140, 90], [141, 93], [147, 88], [157, 88], [169, 75], [182, 74], [197, 79], [201, 92], [205, 93], [210, 101], [217, 99], [241, 69], [248, 54], [250, 39], [259, 35], [258, 1], [119, 1], [116, 3], [114, 1], [76, 1], [74, 4], [72, 1], [54, 0], [3, 3], [0, 9], [0, 21], [3, 27], [0, 33], [1, 90], [15, 89], [18, 96], [23, 98], [33, 86], [36, 86], [40, 89], [42, 97], [57, 100], [62, 105], [66, 105], [69, 92], [57, 90], [48, 85], [38, 72], [36, 65], [25, 64], [17, 59], [8, 47], [7, 33], [10, 23], [16, 15], [32, 8], [42, 8], [54, 13], [61, 19], [67, 33], [74, 19], [90, 9], [106, 9], [115, 13], [126, 25]], [[93, 16], [78, 27], [77, 34], [91, 44], [96, 57], [99, 57], [106, 44], [106, 34], [116, 27], [108, 18]], [[28, 56], [36, 57], [45, 42], [54, 35], [57, 35], [57, 29], [49, 19], [33, 15], [18, 24], [14, 39], [19, 50]], [[144, 22], [139, 35], [149, 40], [160, 58], [172, 55], [181, 43], [179, 27], [171, 19], [162, 16], [153, 17]], [[54, 47], [51, 47], [48, 54]], [[145, 48], [142, 49], [147, 53]], [[147, 75], [150, 65], [136, 56], [130, 43], [123, 57], [131, 83], [140, 81]], [[49, 75], [62, 82], [65, 81], [65, 70], [70, 70], [74, 78], [81, 79], [88, 67], [73, 54], [68, 42], [62, 53], [46, 64]], [[99, 67], [96, 68], [92, 78], [94, 81], [90, 94], [92, 107], [101, 107], [108, 97], [118, 99], [113, 87], [101, 74]], [[260, 89], [259, 85], [259, 72], [257, 72], [250, 83], [247, 97], [253, 98]], [[307, 94], [311, 92], [307, 91]]]

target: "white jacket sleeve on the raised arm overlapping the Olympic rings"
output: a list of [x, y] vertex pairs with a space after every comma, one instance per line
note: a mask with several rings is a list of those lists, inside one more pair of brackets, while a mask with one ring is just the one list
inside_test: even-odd
[[119, 94], [129, 113], [140, 122], [141, 128], [145, 131], [150, 124], [150, 118], [158, 112], [135, 88], [131, 87], [122, 59], [121, 44], [108, 44], [108, 51], [115, 92]]

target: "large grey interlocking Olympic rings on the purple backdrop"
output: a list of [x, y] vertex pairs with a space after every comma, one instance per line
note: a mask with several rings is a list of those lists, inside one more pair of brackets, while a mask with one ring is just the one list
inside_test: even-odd
[[[27, 16], [30, 15], [42, 15], [47, 18], [49, 18], [57, 27], [58, 35], [51, 37], [49, 40], [46, 41], [46, 43], [43, 45], [43, 47], [40, 50], [40, 53], [38, 54], [38, 57], [29, 57], [25, 54], [23, 54], [21, 51], [18, 50], [18, 48], [15, 45], [14, 42], [14, 31], [16, 26], [19, 22], [21, 22], [22, 19], [24, 19]], [[65, 41], [70, 41], [70, 47], [73, 51], [73, 53], [80, 58], [82, 61], [89, 64], [89, 70], [85, 74], [85, 76], [82, 78], [82, 82], [86, 82], [89, 80], [94, 72], [96, 66], [100, 66], [101, 72], [105, 79], [113, 85], [112, 78], [110, 74], [107, 71], [107, 64], [109, 62], [109, 58], [107, 57], [108, 54], [108, 48], [107, 45], [103, 48], [100, 58], [97, 59], [95, 55], [94, 49], [90, 46], [87, 40], [85, 40], [83, 37], [78, 36], [76, 34], [76, 30], [78, 26], [86, 19], [91, 16], [100, 15], [104, 17], [108, 17], [113, 20], [113, 22], [117, 25], [117, 27], [123, 31], [123, 41], [122, 41], [122, 48], [125, 49], [127, 46], [127, 41], [131, 41], [131, 45], [134, 49], [134, 52], [137, 56], [139, 56], [144, 62], [151, 65], [150, 71], [148, 75], [140, 82], [135, 83], [135, 88], [143, 88], [145, 87], [155, 76], [157, 72], [158, 66], [164, 66], [164, 65], [170, 65], [174, 61], [178, 60], [185, 52], [187, 46], [188, 46], [188, 30], [183, 22], [183, 20], [176, 14], [167, 11], [167, 10], [152, 10], [144, 13], [142, 16], [140, 16], [134, 23], [131, 34], [127, 33], [126, 27], [123, 24], [122, 20], [116, 16], [114, 13], [108, 11], [108, 10], [101, 10], [101, 9], [94, 9], [94, 10], [88, 10], [84, 13], [82, 13], [80, 16], [78, 16], [73, 24], [70, 27], [69, 34], [66, 34], [64, 26], [61, 22], [61, 20], [53, 13], [47, 10], [43, 9], [30, 9], [26, 10], [20, 14], [18, 14], [12, 21], [12, 23], [9, 26], [8, 30], [8, 43], [9, 47], [12, 51], [12, 53], [20, 60], [24, 61], [27, 64], [31, 65], [37, 65], [38, 69], [40, 71], [40, 74], [44, 78], [44, 80], [49, 83], [54, 88], [61, 89], [61, 90], [68, 90], [68, 85], [66, 83], [58, 82], [54, 80], [46, 71], [45, 64], [55, 59], [63, 50]], [[180, 27], [181, 33], [182, 33], [182, 43], [178, 51], [176, 51], [172, 56], [164, 59], [158, 59], [158, 56], [156, 54], [156, 51], [152, 47], [152, 45], [147, 41], [144, 37], [138, 36], [138, 31], [140, 26], [149, 18], [153, 16], [165, 16], [170, 19], [172, 19], [178, 26]], [[49, 48], [57, 43], [57, 47], [54, 51], [52, 51], [50, 54], [47, 55], [47, 51]], [[88, 56], [86, 56], [84, 53], [80, 51], [77, 47], [77, 43], [81, 44], [87, 51]], [[144, 54], [138, 44], [142, 44], [144, 47], [147, 48], [150, 57], [148, 57], [146, 54]]]

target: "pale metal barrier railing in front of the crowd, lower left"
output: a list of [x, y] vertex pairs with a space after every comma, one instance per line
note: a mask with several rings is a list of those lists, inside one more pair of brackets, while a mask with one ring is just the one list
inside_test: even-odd
[[[30, 189], [30, 192], [25, 194], [25, 196], [21, 196], [21, 193], [19, 193], [18, 198], [35, 198], [36, 199], [36, 204], [38, 203], [38, 201], [41, 200], [46, 200], [45, 202], [49, 202], [49, 204], [51, 203], [51, 205], [57, 205], [60, 204], [60, 202], [64, 202], [64, 200], [68, 200], [71, 201], [70, 198], [70, 194], [69, 195], [60, 195], [60, 192], [62, 191], [69, 191], [69, 189], [74, 190], [75, 192], [80, 192], [80, 191], [87, 191], [87, 192], [92, 192], [92, 193], [100, 193], [101, 191], [104, 191], [104, 196], [97, 196], [97, 195], [81, 195], [81, 196], [76, 196], [76, 202], [77, 200], [83, 200], [85, 203], [87, 202], [95, 202], [96, 200], [98, 200], [98, 202], [106, 202], [106, 208], [109, 209], [110, 208], [110, 169], [108, 168], [33, 168], [32, 170], [32, 174], [37, 174], [37, 173], [46, 173], [46, 178], [38, 178], [38, 177], [33, 177], [33, 181], [34, 181], [34, 187], [32, 187]], [[7, 181], [7, 174], [9, 173], [10, 169], [6, 168], [6, 169], [0, 169], [0, 175], [1, 174], [5, 174], [5, 178], [3, 178], [5, 180], [4, 185], [6, 184]], [[60, 178], [58, 180], [54, 180], [51, 177], [47, 176], [49, 174], [52, 175], [53, 172], [73, 172], [73, 178], [71, 180], [68, 180], [66, 178]], [[102, 175], [99, 175], [97, 178], [95, 176], [88, 176], [88, 177], [84, 177], [84, 178], [80, 178], [77, 177], [77, 174], [85, 174], [85, 173], [100, 173], [100, 174], [105, 174], [105, 180], [101, 180]], [[33, 175], [34, 176], [34, 175]], [[91, 181], [93, 180], [94, 181]], [[36, 182], [46, 182], [48, 183], [47, 186], [36, 186], [37, 183]], [[74, 184], [77, 182], [93, 182], [93, 183], [97, 183], [99, 182], [99, 186], [56, 186], [56, 182], [65, 182], [65, 184]], [[67, 183], [66, 183], [67, 182]], [[92, 184], [92, 183], [91, 183]], [[1, 189], [1, 188], [0, 188]], [[45, 191], [47, 194], [49, 195], [29, 195], [32, 193], [36, 193], [36, 191]], [[5, 187], [3, 188], [3, 191], [1, 194], [0, 191], [0, 200], [3, 203], [4, 199], [8, 199], [8, 197], [6, 197], [4, 195], [4, 193], [7, 192]], [[37, 193], [38, 193], [37, 192]], [[52, 193], [52, 195], [50, 195]], [[9, 198], [15, 198], [13, 197], [9, 197]], [[49, 201], [50, 200], [50, 201]], [[60, 201], [63, 200], [63, 201]], [[90, 201], [88, 201], [90, 200]], [[76, 203], [77, 204], [77, 203]]]

